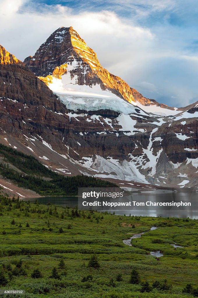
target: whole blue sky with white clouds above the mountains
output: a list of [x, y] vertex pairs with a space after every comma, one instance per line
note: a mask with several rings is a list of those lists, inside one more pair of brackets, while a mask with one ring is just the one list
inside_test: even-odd
[[24, 60], [72, 26], [100, 64], [170, 106], [198, 100], [197, 0], [0, 0], [0, 44]]

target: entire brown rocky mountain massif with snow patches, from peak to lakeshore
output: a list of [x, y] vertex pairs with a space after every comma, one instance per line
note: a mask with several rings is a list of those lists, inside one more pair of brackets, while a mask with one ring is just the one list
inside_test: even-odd
[[[79, 37], [71, 27], [66, 29], [56, 30], [38, 49], [35, 58], [27, 58], [25, 64], [28, 67], [1, 50], [1, 61], [9, 61], [0, 64], [1, 142], [33, 154], [47, 167], [64, 175], [84, 173], [129, 187], [138, 184], [197, 188], [196, 104], [190, 107], [191, 110], [187, 107], [176, 113], [173, 109], [171, 113], [176, 114], [159, 116], [154, 111], [149, 113], [137, 104], [130, 104], [121, 93], [116, 96], [108, 89], [103, 95], [94, 89], [94, 83], [92, 88], [84, 83], [90, 88], [86, 94], [75, 90], [54, 94], [35, 76], [42, 75], [43, 80], [48, 83], [51, 80], [53, 86], [57, 86], [57, 80], [62, 84], [75, 82], [78, 85], [80, 71], [82, 81], [86, 81], [86, 76], [88, 78], [85, 67], [88, 68], [91, 53], [91, 63], [99, 63], [83, 40], [78, 41], [78, 47], [82, 44], [84, 48], [79, 49], [77, 57], [77, 41], [74, 48], [71, 46], [74, 41], [71, 43], [68, 36]], [[64, 38], [67, 43], [63, 43]], [[95, 79], [99, 78], [98, 72]], [[68, 73], [69, 78], [65, 79]], [[113, 81], [119, 79], [110, 74], [109, 77]], [[134, 90], [131, 92], [133, 98], [141, 95]]]

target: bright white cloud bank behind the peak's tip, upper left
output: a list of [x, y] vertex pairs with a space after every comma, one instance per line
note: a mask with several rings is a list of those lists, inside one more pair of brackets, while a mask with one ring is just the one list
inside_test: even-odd
[[100, 58], [106, 55], [110, 63], [113, 63], [110, 52], [114, 53], [112, 56], [116, 61], [121, 59], [125, 47], [131, 49], [132, 44], [137, 47], [137, 44], [146, 44], [154, 38], [149, 29], [127, 24], [110, 11], [74, 14], [70, 8], [60, 4], [41, 5], [22, 0], [13, 3], [14, 9], [10, 11], [7, 1], [4, 1], [6, 16], [1, 23], [5, 30], [0, 32], [0, 38], [4, 47], [21, 60], [33, 55], [49, 35], [61, 26], [72, 26]]

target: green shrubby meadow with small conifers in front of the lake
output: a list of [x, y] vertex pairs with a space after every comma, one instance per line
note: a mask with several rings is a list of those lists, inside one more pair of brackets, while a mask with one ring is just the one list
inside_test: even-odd
[[[1, 290], [24, 290], [16, 295], [24, 298], [198, 296], [198, 220], [0, 199]], [[122, 241], [145, 231], [132, 246]], [[158, 250], [163, 257], [150, 255]]]

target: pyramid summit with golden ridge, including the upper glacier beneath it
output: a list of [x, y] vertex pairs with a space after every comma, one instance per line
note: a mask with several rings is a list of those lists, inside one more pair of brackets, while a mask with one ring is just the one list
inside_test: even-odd
[[[100, 97], [105, 100], [98, 108], [114, 107], [114, 110], [126, 113], [127, 106], [128, 114], [134, 112], [134, 107], [124, 104], [123, 100], [132, 105], [139, 105], [139, 108], [149, 113], [174, 115], [180, 112], [176, 108], [143, 97], [120, 77], [109, 73], [101, 66], [96, 53], [72, 27], [60, 27], [55, 30], [33, 57], [29, 56], [24, 60], [24, 64], [52, 91], [58, 93], [60, 99], [64, 100], [66, 105], [69, 104], [70, 108], [71, 98], [61, 97], [61, 94]], [[85, 103], [82, 97], [81, 103], [81, 108], [86, 109], [88, 101]], [[90, 109], [95, 106], [94, 103], [95, 100], [89, 98]]]

